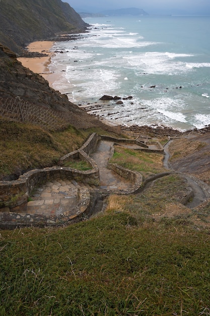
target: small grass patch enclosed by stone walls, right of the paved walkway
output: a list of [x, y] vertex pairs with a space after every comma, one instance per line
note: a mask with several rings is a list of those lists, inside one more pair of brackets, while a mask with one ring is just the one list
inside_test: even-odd
[[126, 149], [120, 146], [115, 146], [115, 152], [110, 163], [138, 171], [142, 173], [145, 178], [166, 171], [162, 167], [162, 154], [136, 151], [134, 149]]

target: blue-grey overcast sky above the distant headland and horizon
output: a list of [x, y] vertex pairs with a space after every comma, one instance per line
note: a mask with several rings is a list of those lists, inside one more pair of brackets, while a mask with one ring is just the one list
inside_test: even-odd
[[[210, 14], [210, 0], [62, 0], [76, 11], [100, 12], [108, 9], [139, 8], [149, 14], [173, 13]], [[81, 12], [81, 11], [80, 11]], [[177, 12], [178, 13], [178, 12]]]

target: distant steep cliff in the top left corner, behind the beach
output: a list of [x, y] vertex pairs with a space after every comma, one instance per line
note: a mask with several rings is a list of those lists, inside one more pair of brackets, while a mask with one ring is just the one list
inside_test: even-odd
[[32, 41], [59, 33], [84, 31], [78, 13], [61, 0], [3, 0], [0, 2], [0, 42], [20, 53]]

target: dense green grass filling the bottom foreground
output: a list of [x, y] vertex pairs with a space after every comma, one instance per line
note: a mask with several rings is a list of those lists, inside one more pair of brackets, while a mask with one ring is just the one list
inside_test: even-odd
[[209, 241], [127, 213], [2, 231], [0, 314], [208, 315]]

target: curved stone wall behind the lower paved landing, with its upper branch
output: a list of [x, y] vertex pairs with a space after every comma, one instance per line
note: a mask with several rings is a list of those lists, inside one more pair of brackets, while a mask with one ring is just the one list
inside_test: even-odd
[[60, 159], [60, 162], [63, 163], [66, 160], [79, 157], [87, 161], [92, 170], [80, 171], [66, 167], [50, 167], [31, 170], [20, 176], [18, 180], [0, 181], [0, 211], [4, 212], [4, 208], [9, 207], [10, 212], [26, 212], [28, 197], [32, 191], [37, 186], [52, 179], [74, 179], [77, 182], [99, 186], [99, 169], [91, 157], [88, 156], [89, 153], [95, 150], [98, 139], [99, 136], [93, 133], [79, 150], [68, 153]]

